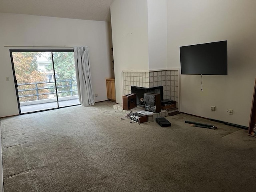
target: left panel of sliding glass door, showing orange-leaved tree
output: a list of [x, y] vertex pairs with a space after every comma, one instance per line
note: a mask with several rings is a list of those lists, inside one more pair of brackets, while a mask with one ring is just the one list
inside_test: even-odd
[[51, 52], [11, 51], [20, 114], [58, 108]]

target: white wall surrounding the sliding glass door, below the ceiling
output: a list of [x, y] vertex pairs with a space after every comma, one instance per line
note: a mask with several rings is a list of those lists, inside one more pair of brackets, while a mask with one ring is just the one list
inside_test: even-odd
[[108, 22], [0, 14], [0, 26], [0, 117], [18, 114], [10, 48], [4, 45], [89, 46], [96, 102], [107, 100], [105, 78], [111, 77]]

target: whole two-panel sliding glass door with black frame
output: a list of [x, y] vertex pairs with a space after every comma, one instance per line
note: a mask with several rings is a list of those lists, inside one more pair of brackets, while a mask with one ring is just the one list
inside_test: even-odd
[[73, 50], [10, 50], [20, 114], [78, 105]]

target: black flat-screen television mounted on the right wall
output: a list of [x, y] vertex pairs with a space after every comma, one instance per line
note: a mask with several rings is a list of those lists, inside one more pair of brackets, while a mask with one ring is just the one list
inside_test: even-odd
[[228, 41], [180, 47], [181, 74], [228, 75]]

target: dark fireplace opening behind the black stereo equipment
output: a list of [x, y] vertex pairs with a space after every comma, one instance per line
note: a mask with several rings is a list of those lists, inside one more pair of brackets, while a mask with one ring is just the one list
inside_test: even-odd
[[161, 100], [163, 100], [163, 86], [144, 88], [144, 87], [135, 87], [131, 86], [132, 93], [136, 93], [136, 101], [138, 106], [144, 107], [144, 93], [157, 93], [160, 94]]

